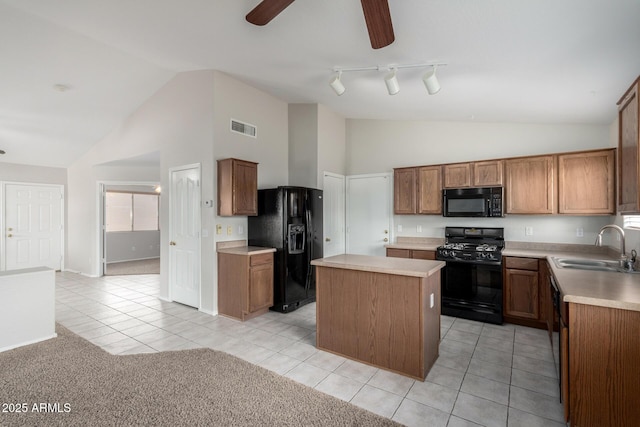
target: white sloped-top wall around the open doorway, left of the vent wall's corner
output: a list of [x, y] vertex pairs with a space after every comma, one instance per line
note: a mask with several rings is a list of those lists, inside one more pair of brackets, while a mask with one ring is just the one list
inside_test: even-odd
[[[203, 195], [213, 194], [213, 72], [178, 74], [87, 154], [68, 169], [67, 267], [97, 275], [98, 181], [160, 182], [169, 188], [168, 170], [200, 163]], [[120, 159], [160, 152], [160, 165], [151, 167], [101, 166]], [[208, 171], [208, 173], [207, 173]], [[168, 296], [168, 199], [160, 196], [161, 286]], [[212, 246], [212, 245], [211, 245]], [[203, 248], [208, 259], [211, 248]], [[203, 264], [206, 269], [210, 264]]]

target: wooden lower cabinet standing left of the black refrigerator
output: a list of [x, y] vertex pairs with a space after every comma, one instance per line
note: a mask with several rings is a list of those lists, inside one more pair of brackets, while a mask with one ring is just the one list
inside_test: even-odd
[[247, 320], [273, 305], [273, 253], [218, 253], [218, 312]]

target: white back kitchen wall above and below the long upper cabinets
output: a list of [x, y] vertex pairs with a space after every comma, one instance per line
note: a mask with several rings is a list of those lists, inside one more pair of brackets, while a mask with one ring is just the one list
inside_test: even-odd
[[[612, 126], [429, 121], [347, 120], [348, 174], [389, 172], [403, 166], [453, 163], [607, 148], [616, 145]], [[610, 216], [532, 216], [443, 218], [395, 215], [394, 235], [444, 237], [445, 226], [504, 227], [512, 241], [593, 244]], [[402, 226], [402, 231], [398, 231]], [[418, 226], [422, 232], [418, 232]], [[533, 235], [525, 235], [525, 227]], [[577, 228], [584, 230], [577, 237]]]

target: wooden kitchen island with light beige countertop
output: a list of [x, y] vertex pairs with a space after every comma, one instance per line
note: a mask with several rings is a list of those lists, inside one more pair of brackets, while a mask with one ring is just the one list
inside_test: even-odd
[[438, 358], [443, 261], [337, 255], [316, 267], [316, 343], [424, 381]]

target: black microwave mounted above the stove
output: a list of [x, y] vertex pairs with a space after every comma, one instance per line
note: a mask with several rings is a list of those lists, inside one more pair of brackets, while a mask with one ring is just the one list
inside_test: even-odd
[[501, 217], [502, 187], [442, 190], [442, 215], [459, 217]]

